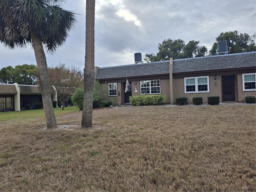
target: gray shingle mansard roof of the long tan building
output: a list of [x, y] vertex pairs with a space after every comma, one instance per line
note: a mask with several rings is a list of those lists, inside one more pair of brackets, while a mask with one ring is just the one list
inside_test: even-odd
[[[98, 68], [96, 79], [128, 78], [169, 74], [169, 61]], [[173, 60], [173, 73], [256, 66], [256, 52]]]

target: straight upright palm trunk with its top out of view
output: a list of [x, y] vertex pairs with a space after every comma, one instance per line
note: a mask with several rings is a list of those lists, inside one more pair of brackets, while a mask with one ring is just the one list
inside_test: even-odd
[[84, 103], [82, 128], [92, 126], [92, 100], [94, 88], [94, 17], [95, 0], [86, 0]]

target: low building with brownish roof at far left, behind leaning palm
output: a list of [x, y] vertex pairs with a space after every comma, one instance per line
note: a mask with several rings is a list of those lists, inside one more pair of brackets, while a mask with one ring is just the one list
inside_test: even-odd
[[37, 85], [0, 84], [0, 112], [25, 110], [26, 104], [34, 109], [38, 102], [42, 102], [42, 95]]

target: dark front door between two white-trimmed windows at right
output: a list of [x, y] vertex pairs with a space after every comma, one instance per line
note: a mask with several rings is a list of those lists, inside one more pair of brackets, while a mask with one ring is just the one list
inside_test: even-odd
[[223, 101], [235, 101], [235, 76], [222, 76], [222, 98]]

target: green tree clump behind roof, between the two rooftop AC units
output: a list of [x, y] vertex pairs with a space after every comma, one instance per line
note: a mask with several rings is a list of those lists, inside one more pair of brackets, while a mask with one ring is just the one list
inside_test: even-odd
[[190, 57], [206, 56], [207, 48], [199, 46], [199, 41], [190, 41], [188, 44], [181, 39], [172, 40], [167, 39], [158, 44], [158, 53], [146, 54], [143, 59], [145, 62], [155, 62], [169, 60], [169, 58], [181, 59]]

